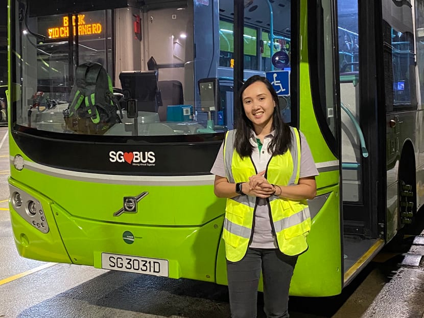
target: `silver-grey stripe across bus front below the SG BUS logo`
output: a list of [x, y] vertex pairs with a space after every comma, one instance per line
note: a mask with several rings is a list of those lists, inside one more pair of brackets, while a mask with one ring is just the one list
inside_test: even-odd
[[[13, 157], [11, 157], [13, 166]], [[187, 176], [133, 176], [78, 172], [43, 166], [37, 163], [25, 161], [24, 169], [48, 174], [53, 177], [84, 181], [91, 183], [102, 183], [112, 185], [134, 185], [134, 186], [210, 186], [214, 184], [215, 176], [207, 175], [187, 175]]]

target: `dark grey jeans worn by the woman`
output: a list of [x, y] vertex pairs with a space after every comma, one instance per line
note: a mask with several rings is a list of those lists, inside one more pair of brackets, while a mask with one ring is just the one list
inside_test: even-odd
[[248, 248], [239, 262], [227, 261], [232, 318], [256, 318], [257, 286], [264, 282], [264, 311], [268, 318], [288, 318], [289, 287], [297, 256], [278, 249]]

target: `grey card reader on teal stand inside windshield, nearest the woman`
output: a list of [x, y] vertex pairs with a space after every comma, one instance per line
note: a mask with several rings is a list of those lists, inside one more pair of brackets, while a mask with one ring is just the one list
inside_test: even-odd
[[[199, 132], [215, 132], [215, 124], [223, 122], [223, 116], [219, 117], [221, 110], [221, 97], [219, 93], [219, 80], [216, 77], [202, 78], [198, 81], [200, 94], [200, 111], [207, 112], [206, 129]], [[202, 131], [200, 131], [202, 130]]]

